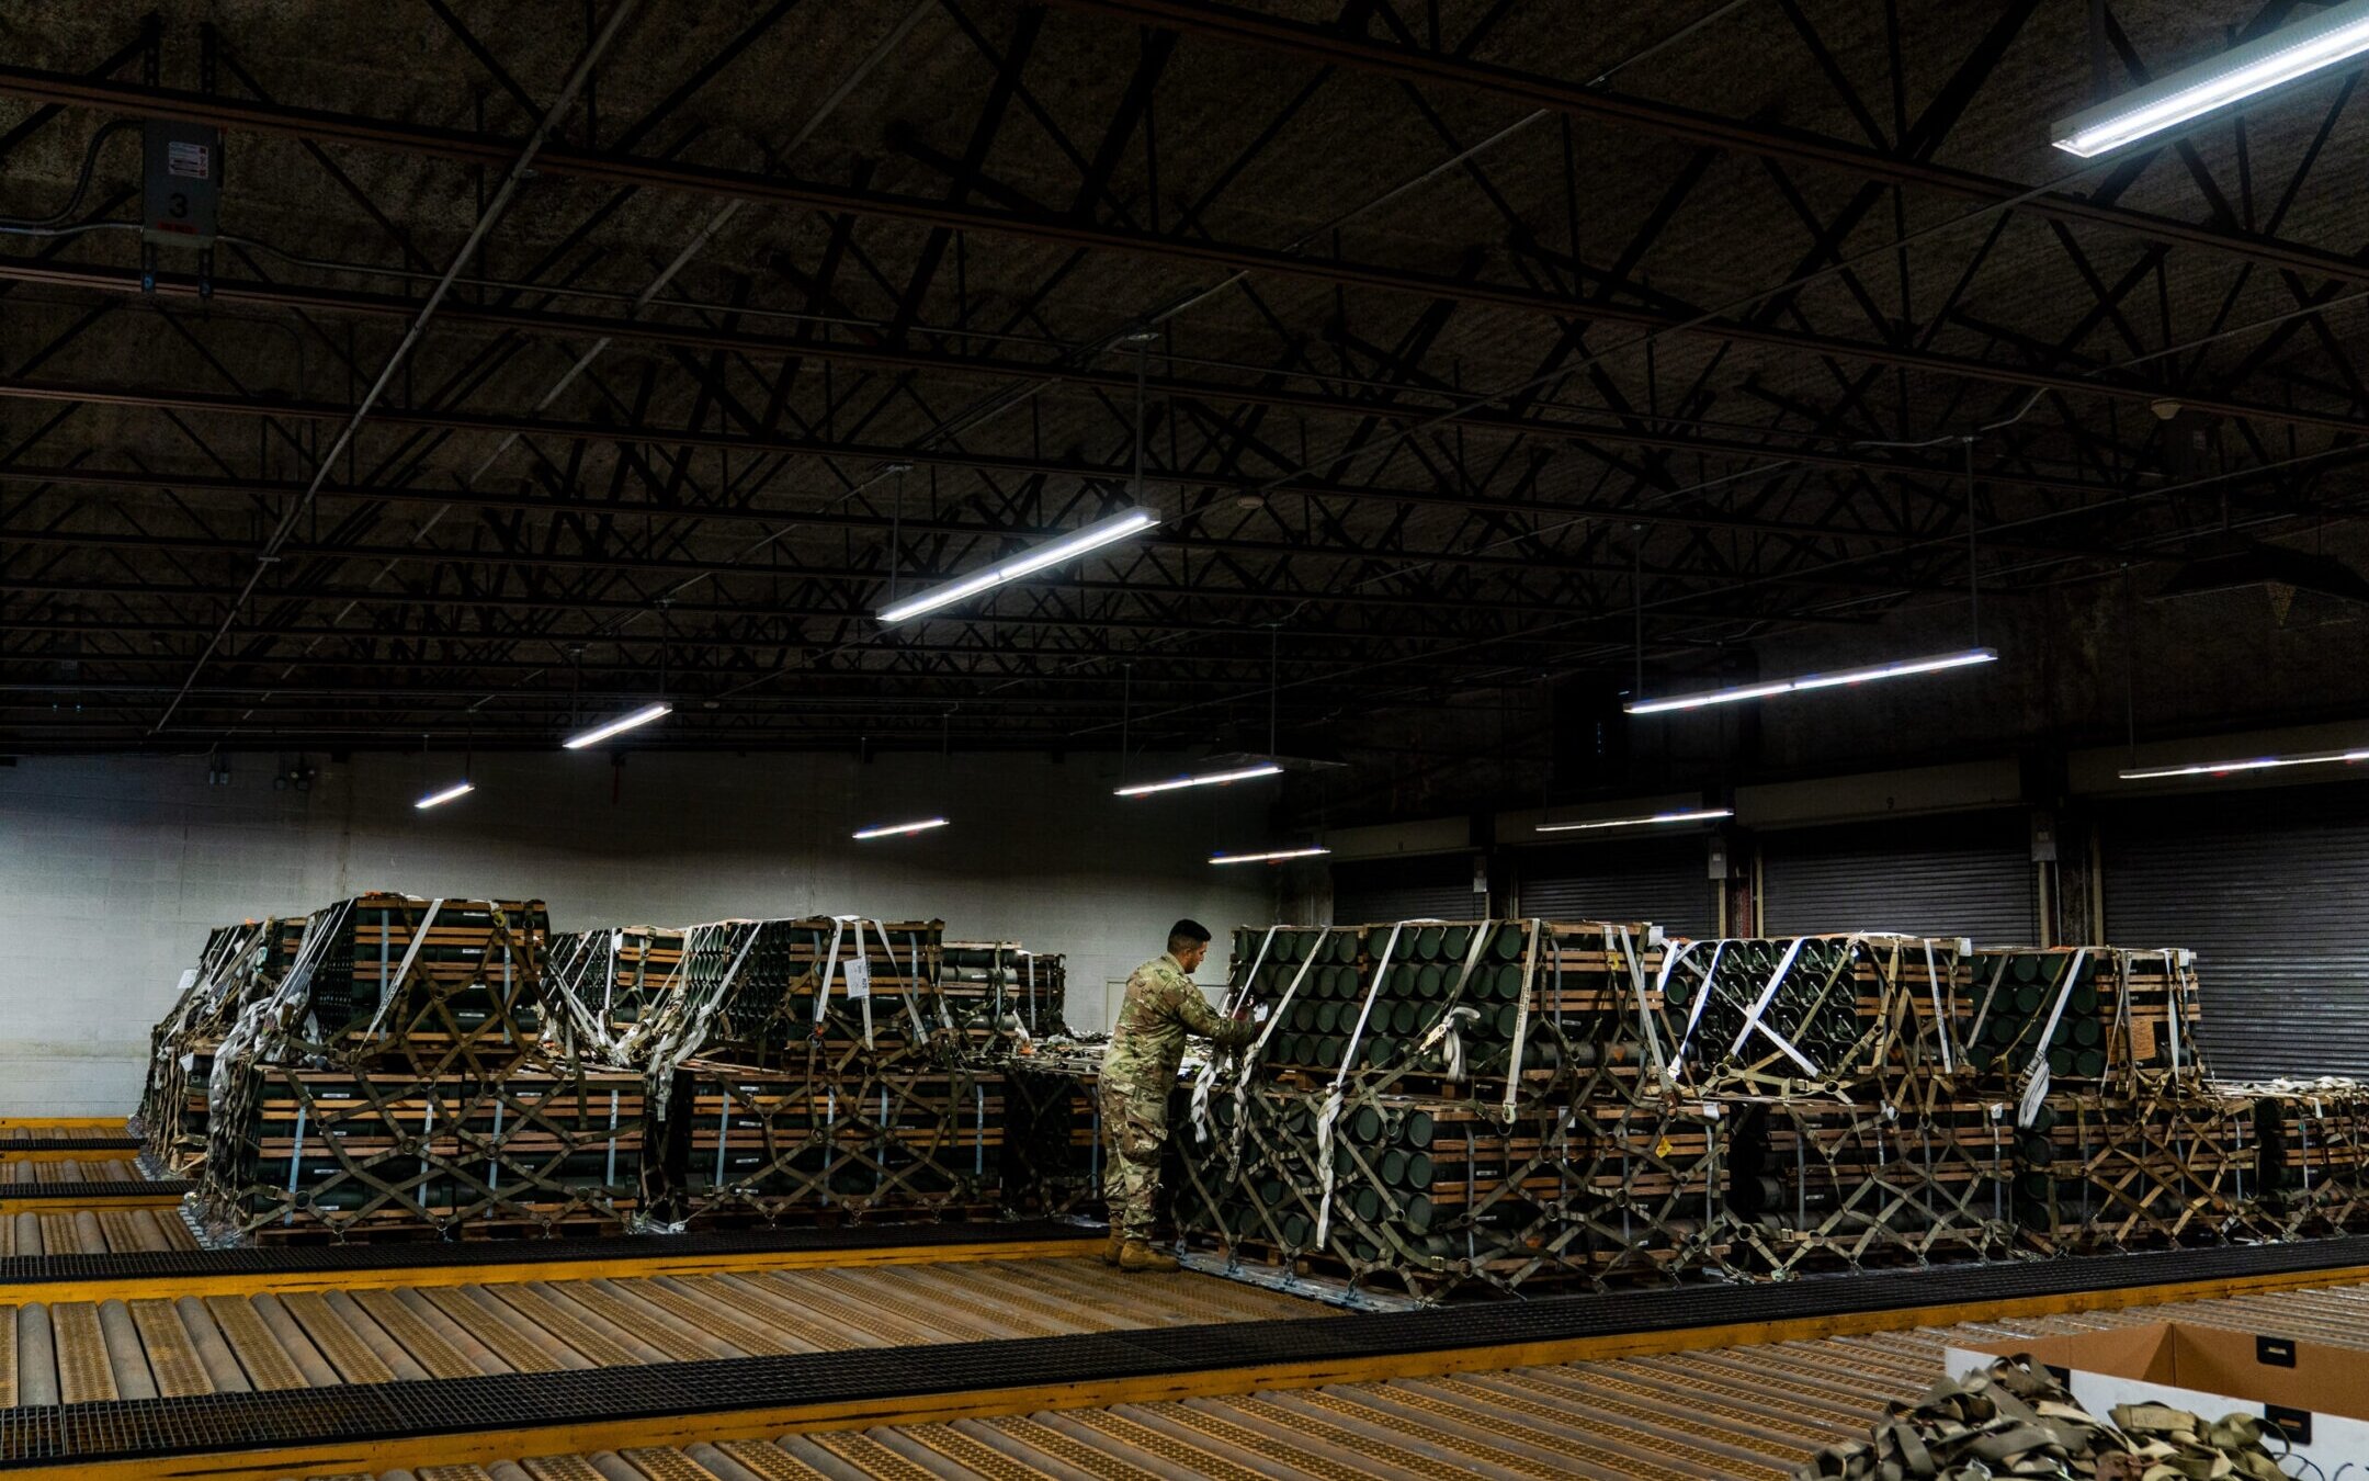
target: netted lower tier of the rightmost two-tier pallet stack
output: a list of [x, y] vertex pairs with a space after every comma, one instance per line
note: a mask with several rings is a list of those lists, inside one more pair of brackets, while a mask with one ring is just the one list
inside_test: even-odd
[[2018, 1109], [2014, 1220], [2040, 1254], [2253, 1237], [2253, 1109], [2168, 1073]]

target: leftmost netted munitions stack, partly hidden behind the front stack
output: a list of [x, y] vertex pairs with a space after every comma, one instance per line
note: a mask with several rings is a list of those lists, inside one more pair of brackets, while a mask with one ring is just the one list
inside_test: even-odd
[[268, 995], [303, 941], [306, 919], [251, 919], [216, 927], [171, 1012], [149, 1033], [140, 1092], [140, 1156], [149, 1173], [182, 1178], [206, 1159], [206, 1085], [213, 1052], [239, 1012]]

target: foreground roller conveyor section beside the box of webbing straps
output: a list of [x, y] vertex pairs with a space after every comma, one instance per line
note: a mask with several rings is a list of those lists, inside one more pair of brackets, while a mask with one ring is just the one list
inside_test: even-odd
[[1784, 1481], [1819, 1448], [1864, 1436], [1886, 1403], [1924, 1393], [1952, 1341], [2158, 1320], [2369, 1351], [2369, 1287], [303, 1481]]

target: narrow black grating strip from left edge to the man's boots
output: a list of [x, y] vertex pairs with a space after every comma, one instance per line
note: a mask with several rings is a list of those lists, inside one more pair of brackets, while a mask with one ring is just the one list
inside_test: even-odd
[[[59, 1185], [64, 1187], [64, 1185]], [[88, 1182], [78, 1187], [126, 1187]], [[130, 1187], [166, 1187], [161, 1182]], [[173, 1187], [187, 1187], [173, 1185]], [[1099, 1227], [1057, 1220], [855, 1225], [841, 1230], [730, 1230], [715, 1235], [599, 1235], [585, 1239], [422, 1239], [417, 1244], [280, 1244], [265, 1249], [156, 1249], [126, 1254], [7, 1256], [0, 1284], [57, 1280], [156, 1280], [194, 1275], [310, 1275], [445, 1265], [552, 1265], [559, 1261], [680, 1261], [704, 1254], [803, 1254], [936, 1244], [1090, 1239]]]

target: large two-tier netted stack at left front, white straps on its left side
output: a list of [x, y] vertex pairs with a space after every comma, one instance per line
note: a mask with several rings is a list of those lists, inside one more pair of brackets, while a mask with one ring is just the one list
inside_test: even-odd
[[614, 1230], [640, 1076], [543, 1038], [540, 903], [360, 896], [315, 912], [208, 1076], [211, 1242]]

